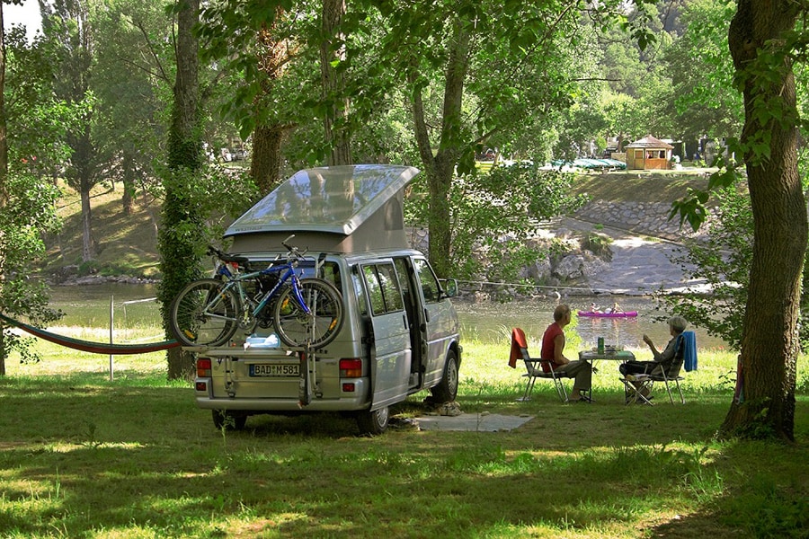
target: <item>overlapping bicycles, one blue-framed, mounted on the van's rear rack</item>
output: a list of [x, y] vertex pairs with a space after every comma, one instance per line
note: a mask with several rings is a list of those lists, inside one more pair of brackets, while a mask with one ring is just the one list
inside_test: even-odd
[[252, 332], [256, 325], [274, 325], [290, 347], [316, 349], [334, 340], [342, 327], [342, 296], [322, 278], [298, 277], [298, 262], [306, 251], [289, 245], [293, 237], [281, 242], [289, 252], [285, 263], [276, 258], [258, 271], [247, 270], [245, 257], [209, 247], [216, 257], [214, 278], [191, 282], [170, 307], [176, 339], [186, 346], [213, 347], [226, 343], [239, 328]]

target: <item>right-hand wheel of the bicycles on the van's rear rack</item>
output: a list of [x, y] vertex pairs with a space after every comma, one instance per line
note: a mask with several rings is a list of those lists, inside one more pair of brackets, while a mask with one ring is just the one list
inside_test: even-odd
[[312, 314], [298, 304], [292, 287], [284, 288], [275, 302], [273, 320], [280, 340], [287, 346], [322, 348], [342, 327], [342, 297], [337, 288], [319, 278], [300, 281], [300, 295]]

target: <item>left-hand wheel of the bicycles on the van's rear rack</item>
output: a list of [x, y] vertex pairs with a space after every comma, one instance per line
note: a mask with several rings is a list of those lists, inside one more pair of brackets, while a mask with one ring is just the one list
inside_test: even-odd
[[174, 337], [186, 346], [219, 346], [236, 332], [238, 300], [215, 278], [182, 288], [171, 306]]

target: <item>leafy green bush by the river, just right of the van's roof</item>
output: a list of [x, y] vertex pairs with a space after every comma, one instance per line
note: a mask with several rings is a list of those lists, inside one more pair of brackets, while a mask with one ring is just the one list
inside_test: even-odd
[[[539, 223], [580, 208], [586, 196], [571, 195], [573, 176], [536, 165], [494, 167], [453, 182], [452, 267], [458, 278], [514, 282], [522, 268], [547, 252], [531, 247]], [[413, 186], [405, 208], [409, 222], [426, 214], [423, 181]]]

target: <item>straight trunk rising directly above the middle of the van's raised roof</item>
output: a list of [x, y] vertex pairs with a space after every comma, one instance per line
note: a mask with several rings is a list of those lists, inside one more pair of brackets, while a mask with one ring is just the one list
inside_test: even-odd
[[328, 164], [351, 164], [351, 137], [348, 128], [349, 100], [345, 96], [342, 71], [332, 62], [345, 60], [345, 46], [340, 23], [345, 14], [345, 0], [324, 0], [321, 19], [320, 74], [324, 101], [328, 103], [324, 117], [326, 143], [330, 152]]

